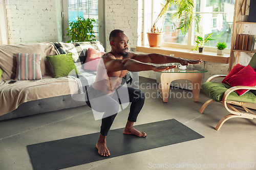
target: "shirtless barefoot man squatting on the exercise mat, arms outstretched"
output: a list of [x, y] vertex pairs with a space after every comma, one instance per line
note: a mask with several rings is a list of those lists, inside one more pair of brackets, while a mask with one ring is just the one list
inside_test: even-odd
[[[164, 71], [177, 66], [155, 66], [153, 64], [181, 63], [182, 65], [198, 64], [201, 60], [186, 60], [182, 58], [166, 56], [161, 54], [135, 54], [128, 52], [128, 37], [121, 30], [113, 30], [110, 33], [111, 52], [104, 54], [97, 66], [95, 83], [87, 90], [89, 101], [87, 104], [98, 112], [104, 112], [101, 130], [96, 148], [101, 156], [109, 156], [110, 151], [106, 147], [106, 135], [118, 113], [121, 93], [120, 84], [122, 77], [128, 71]], [[128, 90], [127, 90], [128, 89]], [[118, 92], [117, 92], [118, 91]], [[133, 125], [143, 107], [145, 95], [135, 88], [126, 87], [129, 101], [132, 102], [129, 117], [123, 131], [124, 134], [132, 134], [145, 137], [145, 132], [136, 130]], [[96, 101], [94, 100], [96, 99]], [[122, 99], [121, 99], [122, 101]], [[123, 102], [122, 102], [123, 103]]]

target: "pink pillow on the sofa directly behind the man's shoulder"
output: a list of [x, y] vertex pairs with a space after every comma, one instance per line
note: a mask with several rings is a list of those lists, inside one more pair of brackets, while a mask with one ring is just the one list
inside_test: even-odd
[[103, 54], [105, 54], [105, 52], [100, 52], [93, 48], [88, 48], [86, 62], [84, 63], [84, 69], [96, 71], [99, 59]]

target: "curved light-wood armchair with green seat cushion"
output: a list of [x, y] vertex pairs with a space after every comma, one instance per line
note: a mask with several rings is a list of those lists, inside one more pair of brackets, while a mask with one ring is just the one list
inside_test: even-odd
[[[256, 54], [253, 55], [249, 65], [252, 68], [256, 68]], [[213, 102], [221, 102], [224, 108], [230, 112], [224, 116], [218, 125], [216, 126], [216, 130], [220, 130], [221, 126], [230, 118], [241, 117], [241, 118], [256, 118], [256, 114], [250, 109], [256, 109], [256, 87], [251, 86], [235, 86], [231, 87], [224, 83], [216, 83], [211, 82], [216, 78], [226, 77], [226, 75], [215, 75], [210, 77], [205, 83], [202, 84], [203, 91], [211, 98], [211, 100], [205, 102], [200, 109], [200, 113], [203, 113], [206, 106]], [[245, 94], [239, 96], [235, 90], [239, 89], [248, 89], [250, 91]], [[242, 107], [242, 110], [238, 110], [232, 105]], [[250, 109], [248, 109], [250, 108]]]

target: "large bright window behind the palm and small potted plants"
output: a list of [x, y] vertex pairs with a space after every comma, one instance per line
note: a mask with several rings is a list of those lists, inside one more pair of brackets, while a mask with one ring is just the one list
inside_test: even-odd
[[[202, 28], [201, 36], [206, 37], [210, 33], [215, 40], [209, 41], [205, 44], [206, 51], [216, 51], [216, 44], [218, 42], [226, 42], [226, 52], [230, 51], [232, 22], [234, 13], [235, 0], [195, 0], [196, 14], [201, 15], [200, 28]], [[156, 1], [154, 3], [158, 3]], [[165, 4], [165, 0], [161, 0]], [[161, 8], [159, 6], [158, 8]], [[183, 35], [179, 27], [179, 22], [173, 19], [173, 13], [177, 8], [172, 5], [166, 14], [163, 25], [164, 38], [162, 44], [165, 46], [182, 47], [192, 49], [195, 45], [196, 31], [195, 25], [190, 28], [186, 35]]]

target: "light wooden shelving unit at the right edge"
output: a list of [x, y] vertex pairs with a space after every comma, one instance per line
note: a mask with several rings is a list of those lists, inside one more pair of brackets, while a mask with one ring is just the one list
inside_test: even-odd
[[241, 13], [245, 9], [244, 0], [236, 0], [234, 4], [234, 19], [233, 19], [233, 31], [231, 37], [231, 50], [230, 50], [230, 62], [229, 62], [229, 71], [233, 68], [234, 65], [240, 63], [241, 53], [256, 53], [256, 51], [244, 51], [244, 50], [235, 50], [234, 45], [236, 42], [236, 35], [243, 34], [244, 24], [256, 24], [256, 22], [242, 22], [240, 20]]

